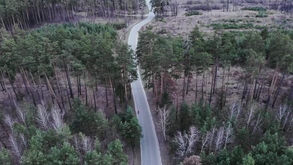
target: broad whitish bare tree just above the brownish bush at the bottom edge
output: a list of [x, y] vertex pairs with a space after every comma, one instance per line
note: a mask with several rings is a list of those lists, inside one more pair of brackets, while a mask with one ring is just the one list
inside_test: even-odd
[[193, 148], [198, 140], [199, 131], [196, 127], [190, 127], [188, 134], [182, 134], [178, 131], [173, 141], [176, 145], [178, 145], [178, 148], [175, 152], [175, 158], [183, 159], [192, 154]]

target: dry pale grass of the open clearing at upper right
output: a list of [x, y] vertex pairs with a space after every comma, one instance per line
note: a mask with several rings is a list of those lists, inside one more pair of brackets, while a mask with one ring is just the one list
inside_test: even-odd
[[[268, 17], [257, 18], [255, 17], [255, 15], [258, 13], [257, 11], [241, 10], [243, 7], [262, 6], [262, 4], [239, 4], [239, 9], [237, 11], [233, 11], [233, 6], [230, 4], [230, 11], [223, 12], [222, 9], [212, 10], [210, 12], [199, 10], [201, 13], [203, 13], [202, 15], [185, 16], [185, 13], [188, 10], [187, 6], [189, 6], [186, 4], [187, 1], [188, 0], [179, 1], [178, 15], [176, 17], [170, 16], [164, 18], [166, 23], [153, 21], [151, 23], [153, 26], [152, 31], [156, 32], [164, 28], [171, 35], [186, 36], [195, 26], [199, 26], [200, 29], [204, 32], [213, 32], [214, 29], [212, 27], [208, 28], [207, 25], [211, 23], [230, 23], [223, 22], [223, 19], [242, 19], [243, 21], [239, 23], [246, 23], [246, 21], [254, 20], [254, 22], [252, 22], [254, 25], [267, 25], [269, 28], [273, 29], [276, 29], [279, 26], [284, 26], [287, 29], [293, 27], [293, 20], [291, 20], [291, 15], [285, 15], [279, 11], [267, 10]], [[222, 7], [222, 4], [215, 3], [214, 5]], [[283, 22], [285, 19], [287, 19], [286, 24]]]

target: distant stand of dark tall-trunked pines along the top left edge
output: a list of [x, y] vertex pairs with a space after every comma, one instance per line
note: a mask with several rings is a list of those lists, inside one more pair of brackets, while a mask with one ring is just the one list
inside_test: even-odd
[[0, 0], [0, 27], [11, 31], [48, 22], [78, 20], [85, 17], [114, 18], [143, 16], [145, 0]]

